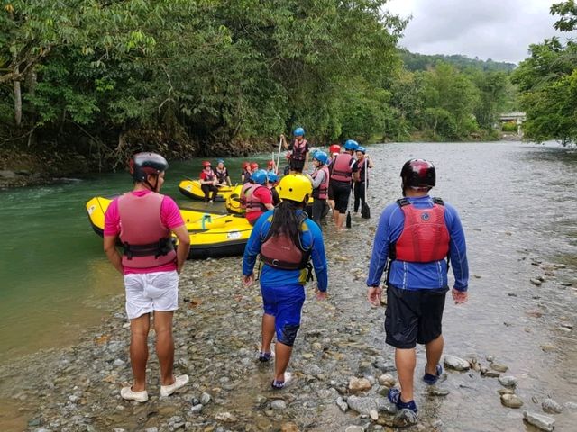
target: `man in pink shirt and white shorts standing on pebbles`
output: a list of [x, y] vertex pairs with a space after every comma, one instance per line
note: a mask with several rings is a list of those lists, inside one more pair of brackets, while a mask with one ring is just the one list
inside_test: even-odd
[[[188, 257], [190, 239], [176, 202], [159, 193], [168, 167], [166, 159], [155, 153], [134, 155], [130, 162], [134, 189], [114, 199], [105, 213], [105, 254], [124, 275], [130, 320], [134, 382], [120, 392], [130, 401], [148, 400], [146, 363], [151, 313], [160, 364], [160, 396], [169, 396], [188, 383], [188, 375], [172, 374], [172, 315], [178, 309], [179, 274]], [[170, 232], [179, 238], [176, 251]], [[123, 255], [116, 249], [118, 238], [124, 245]]]

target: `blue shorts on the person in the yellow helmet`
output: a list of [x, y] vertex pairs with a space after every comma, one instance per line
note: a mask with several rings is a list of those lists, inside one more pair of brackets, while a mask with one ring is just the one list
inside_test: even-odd
[[277, 341], [292, 347], [300, 327], [300, 312], [305, 303], [305, 287], [300, 284], [262, 286], [264, 313], [275, 318]]

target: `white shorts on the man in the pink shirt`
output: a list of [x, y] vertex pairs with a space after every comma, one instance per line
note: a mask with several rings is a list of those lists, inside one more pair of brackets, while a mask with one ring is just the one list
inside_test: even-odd
[[129, 320], [151, 311], [179, 309], [179, 274], [176, 270], [124, 275], [124, 288]]

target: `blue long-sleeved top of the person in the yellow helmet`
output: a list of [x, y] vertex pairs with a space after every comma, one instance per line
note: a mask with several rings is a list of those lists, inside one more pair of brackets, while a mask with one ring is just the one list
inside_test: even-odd
[[[300, 214], [302, 211], [297, 211]], [[266, 238], [272, 222], [273, 210], [261, 215], [252, 229], [249, 242], [244, 248], [243, 275], [251, 275], [256, 263], [256, 257], [261, 253], [262, 240]], [[328, 275], [325, 257], [325, 244], [323, 234], [318, 225], [312, 220], [305, 220], [300, 241], [305, 249], [311, 248], [311, 258], [315, 268], [316, 284], [319, 291], [326, 291], [328, 286]], [[262, 265], [261, 285], [263, 286], [287, 286], [287, 285], [307, 284], [307, 269], [303, 270], [283, 270], [273, 268], [266, 264]]]

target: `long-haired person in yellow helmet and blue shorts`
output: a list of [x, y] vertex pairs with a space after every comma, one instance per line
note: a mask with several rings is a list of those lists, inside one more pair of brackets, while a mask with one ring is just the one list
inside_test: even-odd
[[291, 379], [287, 371], [292, 347], [300, 327], [305, 302], [305, 284], [316, 274], [316, 299], [325, 300], [328, 286], [323, 235], [304, 211], [313, 186], [305, 175], [285, 175], [277, 186], [281, 202], [261, 215], [244, 249], [243, 283], [254, 281], [256, 258], [261, 255], [262, 341], [259, 360], [275, 356], [270, 344], [275, 333], [273, 389], [282, 389]]

